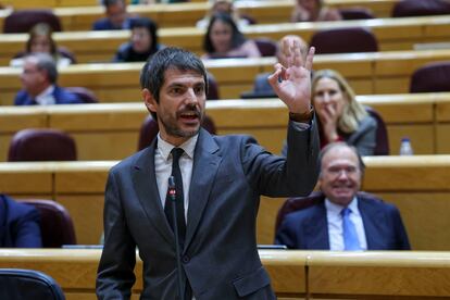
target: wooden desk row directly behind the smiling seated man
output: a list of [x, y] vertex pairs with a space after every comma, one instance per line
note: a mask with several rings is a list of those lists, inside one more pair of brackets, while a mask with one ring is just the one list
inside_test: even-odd
[[[397, 204], [414, 250], [449, 250], [450, 155], [367, 157], [363, 190]], [[50, 198], [67, 208], [79, 243], [98, 243], [103, 192], [116, 161], [0, 163], [0, 189], [17, 199]], [[32, 184], [33, 182], [33, 184]], [[258, 241], [272, 243], [285, 199], [262, 197]]]

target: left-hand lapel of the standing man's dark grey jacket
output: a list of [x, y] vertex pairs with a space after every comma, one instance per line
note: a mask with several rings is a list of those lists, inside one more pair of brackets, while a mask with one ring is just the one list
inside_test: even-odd
[[165, 217], [158, 190], [157, 175], [154, 173], [154, 149], [157, 139], [151, 146], [145, 149], [134, 166], [133, 180], [139, 202], [148, 218], [153, 223], [160, 234], [171, 243], [175, 237]]

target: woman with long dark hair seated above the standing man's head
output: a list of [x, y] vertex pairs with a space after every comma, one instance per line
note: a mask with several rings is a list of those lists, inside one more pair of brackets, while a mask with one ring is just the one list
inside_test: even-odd
[[214, 14], [203, 40], [202, 59], [260, 58], [257, 43], [247, 39], [227, 13]]

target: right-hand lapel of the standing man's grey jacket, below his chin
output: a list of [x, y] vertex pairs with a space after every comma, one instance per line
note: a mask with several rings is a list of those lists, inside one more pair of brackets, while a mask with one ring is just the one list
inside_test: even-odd
[[207, 130], [201, 129], [193, 154], [185, 250], [197, 230], [221, 161], [217, 143]]

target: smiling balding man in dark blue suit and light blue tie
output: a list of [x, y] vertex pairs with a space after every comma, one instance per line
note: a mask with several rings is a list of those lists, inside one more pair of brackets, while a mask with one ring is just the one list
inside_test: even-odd
[[290, 249], [410, 250], [399, 210], [359, 192], [364, 163], [354, 147], [327, 145], [320, 155], [318, 202], [285, 216], [275, 243]]

